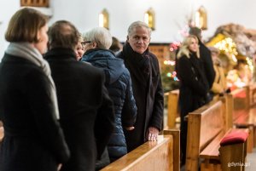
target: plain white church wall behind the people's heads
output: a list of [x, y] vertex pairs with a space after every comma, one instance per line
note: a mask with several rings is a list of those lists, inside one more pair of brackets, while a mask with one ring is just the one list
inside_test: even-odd
[[[88, 31], [98, 26], [98, 14], [108, 9], [110, 31], [124, 42], [131, 22], [143, 20], [143, 14], [150, 7], [155, 12], [153, 43], [171, 43], [182, 39], [179, 31], [185, 27], [187, 18], [203, 5], [207, 9], [208, 30], [204, 37], [212, 37], [216, 28], [230, 22], [256, 29], [255, 0], [51, 0], [53, 17], [56, 20], [70, 20], [79, 31]], [[8, 43], [4, 41], [4, 31], [9, 18], [20, 8], [20, 0], [0, 0], [0, 58]]]

